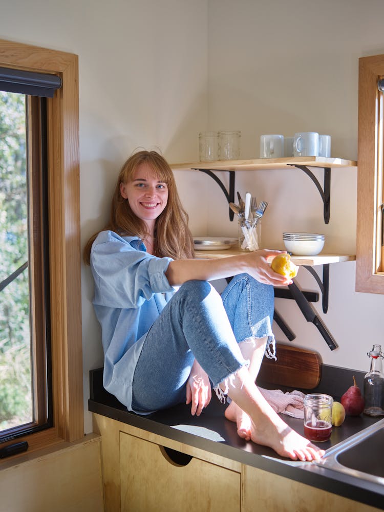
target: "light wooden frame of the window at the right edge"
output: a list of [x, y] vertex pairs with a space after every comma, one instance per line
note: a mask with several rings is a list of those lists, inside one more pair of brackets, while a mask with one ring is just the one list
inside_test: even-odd
[[356, 291], [384, 293], [381, 247], [384, 55], [359, 59]]

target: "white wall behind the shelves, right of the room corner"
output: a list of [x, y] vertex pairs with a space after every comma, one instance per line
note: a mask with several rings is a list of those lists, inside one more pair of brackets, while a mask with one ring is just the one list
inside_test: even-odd
[[[241, 130], [242, 158], [259, 157], [263, 133], [317, 131], [332, 136], [332, 156], [356, 160], [358, 58], [384, 53], [381, 0], [209, 0], [208, 6], [210, 129]], [[323, 173], [314, 174], [323, 183]], [[284, 248], [283, 231], [310, 231], [326, 234], [326, 252], [354, 254], [356, 181], [355, 169], [332, 169], [328, 225], [315, 185], [299, 169], [238, 173], [236, 189], [270, 203], [264, 247]], [[221, 196], [212, 193], [211, 211], [226, 219]], [[210, 219], [209, 234], [236, 233], [217, 215]], [[316, 270], [322, 275], [322, 267]], [[305, 269], [298, 282], [318, 291]], [[331, 265], [329, 311], [314, 305], [339, 345], [334, 351], [293, 301], [278, 299], [276, 309], [295, 332], [294, 345], [317, 350], [326, 364], [368, 371], [367, 350], [382, 341], [384, 296], [354, 288], [355, 263]], [[279, 327], [274, 331], [289, 343]]]

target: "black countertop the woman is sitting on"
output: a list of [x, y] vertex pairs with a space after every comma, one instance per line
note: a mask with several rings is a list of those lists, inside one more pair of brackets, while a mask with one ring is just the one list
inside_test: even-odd
[[[321, 391], [339, 400], [339, 397], [353, 385], [352, 375], [356, 377], [357, 384], [362, 389], [363, 372], [323, 365], [321, 382], [310, 392]], [[258, 385], [271, 389], [265, 382], [258, 382]], [[283, 391], [292, 389], [281, 386], [279, 388]], [[383, 485], [332, 471], [311, 462], [291, 461], [280, 457], [269, 447], [241, 439], [237, 434], [236, 424], [224, 417], [226, 406], [221, 404], [216, 396], [212, 396], [209, 406], [200, 417], [191, 416], [190, 406], [185, 404], [148, 416], [140, 416], [128, 412], [113, 395], [104, 390], [102, 368], [91, 370], [90, 390], [89, 410], [94, 413], [384, 510]], [[292, 429], [304, 435], [302, 419], [287, 415], [282, 417]], [[378, 419], [380, 418], [364, 414], [357, 417], [347, 416], [342, 426], [332, 429], [331, 439], [319, 445], [327, 450]]]

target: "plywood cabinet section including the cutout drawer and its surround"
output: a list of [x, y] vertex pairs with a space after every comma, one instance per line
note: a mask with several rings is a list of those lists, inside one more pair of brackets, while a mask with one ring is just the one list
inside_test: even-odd
[[242, 510], [240, 462], [97, 414], [94, 430], [102, 438], [106, 512]]

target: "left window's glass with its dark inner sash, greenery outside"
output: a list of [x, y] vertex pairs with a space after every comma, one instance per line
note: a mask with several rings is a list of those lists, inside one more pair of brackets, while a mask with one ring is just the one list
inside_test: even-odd
[[0, 441], [52, 425], [46, 98], [13, 88], [0, 81]]

